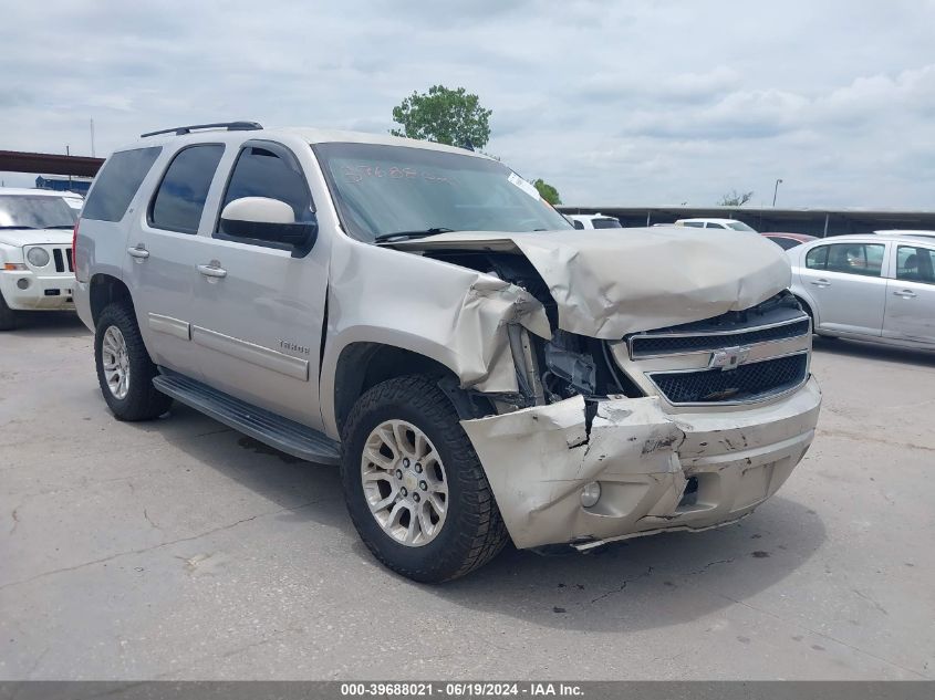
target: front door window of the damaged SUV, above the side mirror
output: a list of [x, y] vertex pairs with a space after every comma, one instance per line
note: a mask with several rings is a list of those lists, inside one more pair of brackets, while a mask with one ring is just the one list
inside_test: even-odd
[[[242, 197], [284, 201], [292, 207], [297, 222], [305, 223], [313, 218], [312, 196], [299, 161], [292, 153], [276, 144], [248, 145], [240, 152], [227, 184], [221, 211]], [[225, 231], [222, 219], [217, 230], [230, 234]]]

